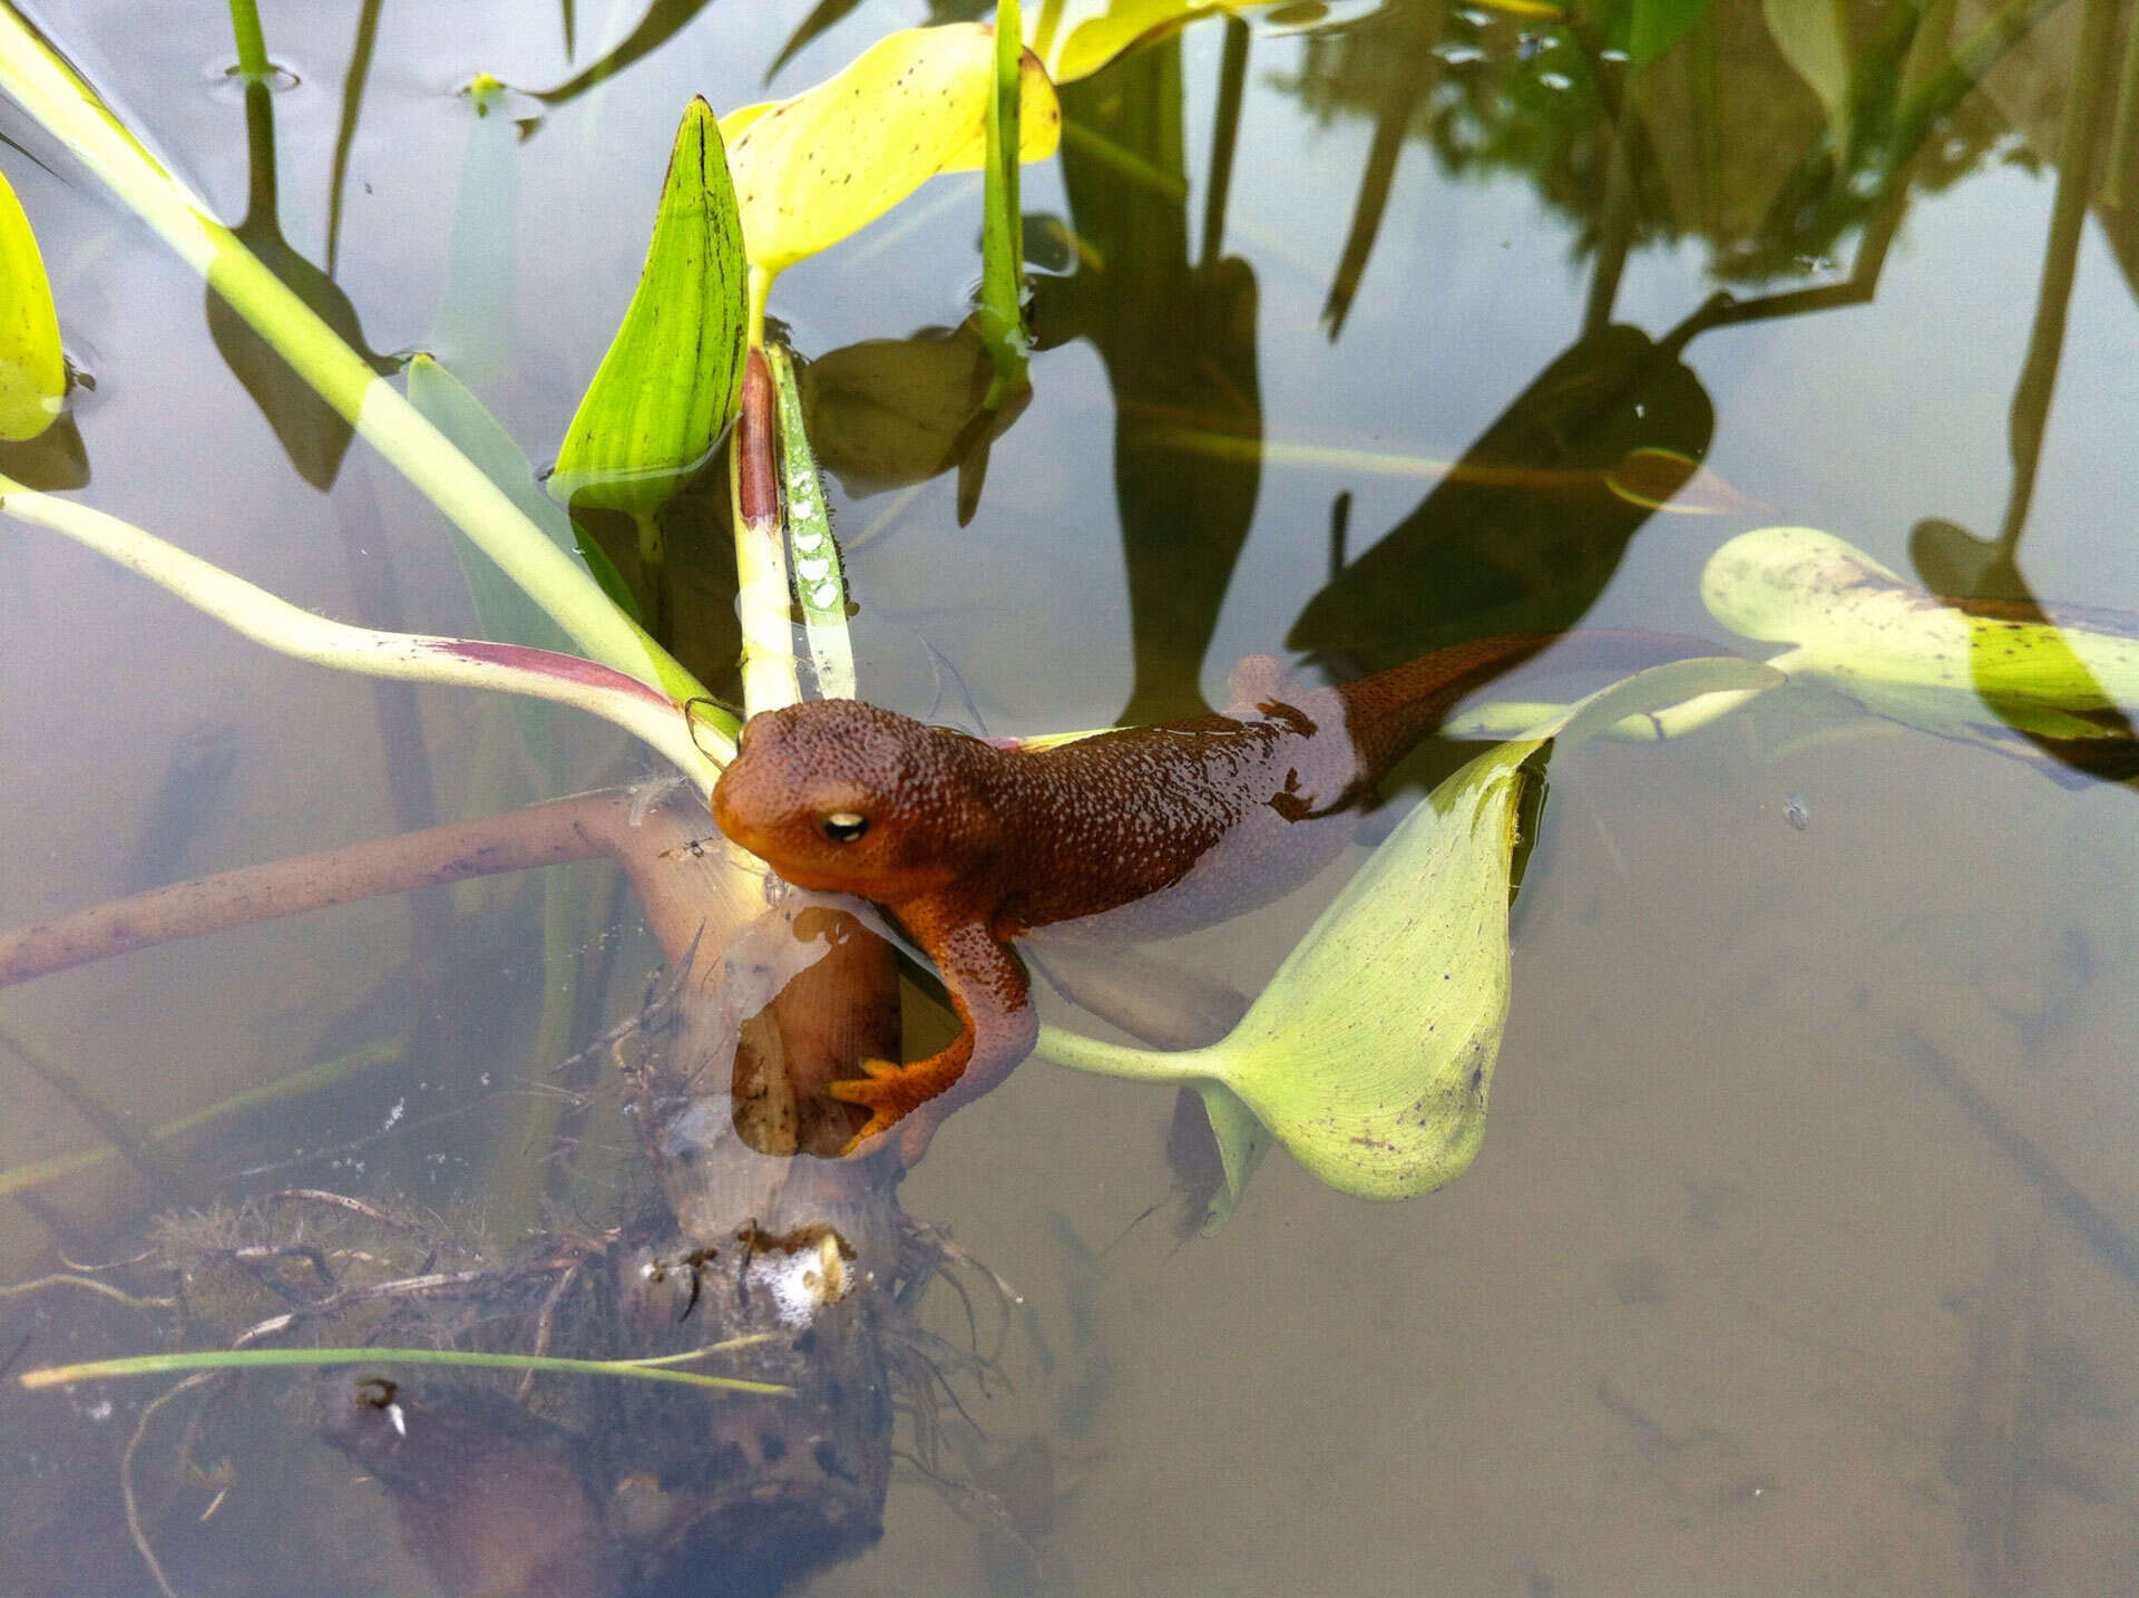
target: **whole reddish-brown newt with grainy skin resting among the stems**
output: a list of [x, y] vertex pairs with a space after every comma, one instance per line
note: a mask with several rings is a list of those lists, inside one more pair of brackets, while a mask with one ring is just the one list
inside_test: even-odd
[[[800, 888], [890, 909], [928, 952], [963, 1031], [909, 1065], [864, 1061], [830, 1093], [873, 1115], [853, 1153], [896, 1125], [907, 1164], [956, 1106], [1037, 1035], [1012, 939], [1035, 928], [1159, 937], [1211, 926], [1307, 881], [1375, 783], [1472, 689], [1555, 635], [1489, 637], [1335, 689], [1279, 697], [1277, 661], [1243, 661], [1221, 717], [1048, 749], [1001, 749], [858, 700], [751, 717], [712, 789], [721, 830]], [[1581, 665], [1713, 652], [1653, 633], [1570, 633]], [[926, 1108], [924, 1108], [926, 1106]]]

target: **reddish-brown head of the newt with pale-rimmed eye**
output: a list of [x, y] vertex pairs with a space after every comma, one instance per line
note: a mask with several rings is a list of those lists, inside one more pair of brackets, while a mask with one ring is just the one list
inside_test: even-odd
[[764, 710], [712, 787], [712, 819], [798, 888], [896, 905], [992, 849], [975, 766], [990, 753], [860, 700]]

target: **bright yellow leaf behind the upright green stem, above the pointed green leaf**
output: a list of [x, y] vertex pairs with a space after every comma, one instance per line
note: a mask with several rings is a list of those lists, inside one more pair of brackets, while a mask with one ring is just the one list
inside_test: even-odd
[[[907, 28], [789, 101], [729, 111], [721, 133], [751, 265], [779, 272], [858, 233], [939, 171], [982, 167], [992, 81], [992, 28]], [[1018, 154], [1046, 160], [1061, 103], [1031, 51], [1022, 101]]]

